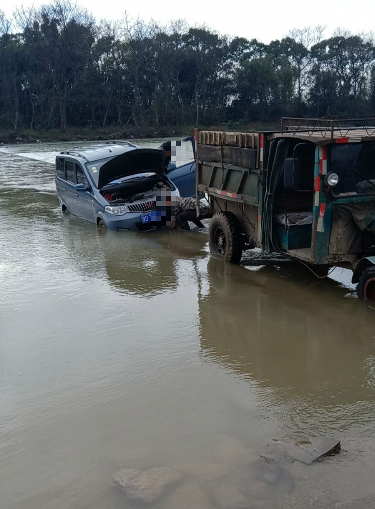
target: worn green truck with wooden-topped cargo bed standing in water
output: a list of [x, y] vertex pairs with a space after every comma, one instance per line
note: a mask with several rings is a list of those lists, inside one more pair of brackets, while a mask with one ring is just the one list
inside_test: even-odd
[[280, 131], [195, 131], [213, 256], [282, 252], [353, 270], [375, 300], [375, 119], [283, 118]]

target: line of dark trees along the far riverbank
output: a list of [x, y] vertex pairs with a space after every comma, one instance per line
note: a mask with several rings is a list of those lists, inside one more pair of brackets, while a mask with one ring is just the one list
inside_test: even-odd
[[316, 26], [263, 44], [183, 20], [97, 22], [69, 0], [11, 18], [0, 11], [0, 125], [10, 130], [231, 127], [374, 112], [371, 34], [325, 39]]

